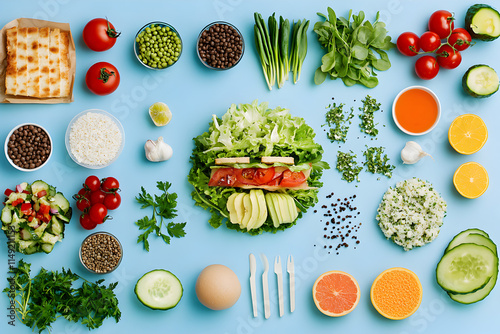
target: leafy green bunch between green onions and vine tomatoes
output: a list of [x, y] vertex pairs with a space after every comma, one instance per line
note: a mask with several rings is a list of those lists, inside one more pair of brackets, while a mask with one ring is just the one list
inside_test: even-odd
[[377, 86], [374, 69], [385, 71], [391, 67], [385, 51], [395, 46], [387, 36], [385, 24], [379, 21], [379, 13], [373, 24], [365, 21], [363, 11], [352, 15], [350, 10], [347, 19], [337, 18], [335, 11], [328, 7], [328, 16], [318, 15], [325, 21], [317, 22], [314, 32], [327, 53], [316, 70], [314, 82], [319, 85], [329, 76], [333, 80], [342, 79], [346, 86], [357, 83], [368, 88]]

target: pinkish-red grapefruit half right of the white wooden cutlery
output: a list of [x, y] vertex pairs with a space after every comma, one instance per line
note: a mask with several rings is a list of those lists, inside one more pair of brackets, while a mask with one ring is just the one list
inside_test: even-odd
[[358, 282], [343, 271], [329, 271], [318, 277], [313, 286], [314, 304], [330, 317], [340, 317], [356, 308], [359, 302]]

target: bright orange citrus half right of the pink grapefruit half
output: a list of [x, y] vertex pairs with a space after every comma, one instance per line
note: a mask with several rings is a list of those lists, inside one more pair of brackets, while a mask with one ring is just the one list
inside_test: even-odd
[[381, 315], [401, 320], [415, 313], [422, 302], [422, 294], [422, 285], [413, 271], [390, 268], [375, 279], [370, 298]]

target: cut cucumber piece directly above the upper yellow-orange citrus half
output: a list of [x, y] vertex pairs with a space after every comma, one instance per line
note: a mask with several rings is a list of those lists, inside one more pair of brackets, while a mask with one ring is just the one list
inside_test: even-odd
[[467, 94], [485, 98], [498, 91], [500, 81], [497, 72], [488, 65], [474, 65], [462, 77], [462, 87]]

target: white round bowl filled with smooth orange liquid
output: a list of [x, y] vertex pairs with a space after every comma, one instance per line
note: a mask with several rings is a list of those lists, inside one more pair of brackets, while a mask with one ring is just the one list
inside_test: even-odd
[[406, 134], [420, 136], [434, 129], [441, 118], [441, 103], [437, 95], [424, 86], [403, 89], [392, 104], [392, 117]]

